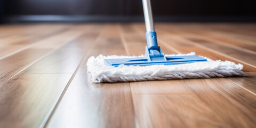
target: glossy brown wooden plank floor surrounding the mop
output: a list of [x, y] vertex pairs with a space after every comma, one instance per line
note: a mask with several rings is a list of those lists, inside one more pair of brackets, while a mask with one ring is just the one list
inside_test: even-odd
[[143, 23], [0, 26], [0, 127], [256, 127], [256, 23], [156, 23], [165, 54], [246, 77], [93, 84], [92, 55], [141, 55]]

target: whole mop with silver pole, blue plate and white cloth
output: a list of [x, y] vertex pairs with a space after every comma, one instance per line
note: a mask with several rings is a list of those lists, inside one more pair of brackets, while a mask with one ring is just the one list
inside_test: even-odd
[[99, 55], [87, 60], [92, 82], [135, 82], [149, 80], [245, 76], [243, 65], [230, 61], [214, 61], [188, 54], [165, 55], [157, 44], [150, 0], [142, 0], [146, 24], [147, 46], [139, 57]]

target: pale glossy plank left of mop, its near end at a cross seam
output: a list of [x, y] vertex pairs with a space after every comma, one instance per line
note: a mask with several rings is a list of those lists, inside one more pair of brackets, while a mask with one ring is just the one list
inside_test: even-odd
[[83, 34], [34, 63], [23, 73], [74, 73], [99, 31]]

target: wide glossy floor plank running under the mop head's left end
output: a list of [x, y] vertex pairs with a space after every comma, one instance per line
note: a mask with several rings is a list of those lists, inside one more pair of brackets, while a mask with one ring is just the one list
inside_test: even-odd
[[118, 25], [107, 25], [94, 43], [46, 127], [135, 127], [129, 83], [93, 84], [87, 75], [91, 55], [125, 55]]

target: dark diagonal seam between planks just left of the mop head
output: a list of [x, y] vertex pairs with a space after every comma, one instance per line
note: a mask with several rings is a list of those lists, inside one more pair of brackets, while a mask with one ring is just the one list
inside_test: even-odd
[[49, 124], [49, 121], [51, 120], [51, 117], [54, 114], [55, 110], [58, 108], [58, 105], [59, 105], [60, 101], [62, 100], [63, 95], [66, 93], [66, 91], [67, 91], [70, 83], [72, 82], [73, 78], [75, 77], [78, 69], [81, 68], [81, 65], [82, 65], [83, 61], [87, 58], [87, 56], [91, 52], [92, 48], [96, 45], [95, 42], [97, 43], [99, 41], [101, 33], [102, 33], [102, 30], [98, 34], [97, 38], [95, 38], [95, 40], [93, 41], [93, 45], [91, 46], [91, 49], [89, 49], [89, 51], [86, 52], [86, 54], [84, 55], [83, 59], [80, 61], [78, 67], [75, 70], [75, 73], [69, 79], [68, 84], [65, 86], [65, 89], [62, 91], [62, 93], [61, 93], [60, 97], [58, 98], [57, 102], [54, 103], [52, 109], [49, 111], [49, 113], [47, 114], [47, 116], [45, 117], [44, 121], [42, 122], [42, 124], [39, 127], [41, 127], [41, 128], [47, 127], [47, 124]]

